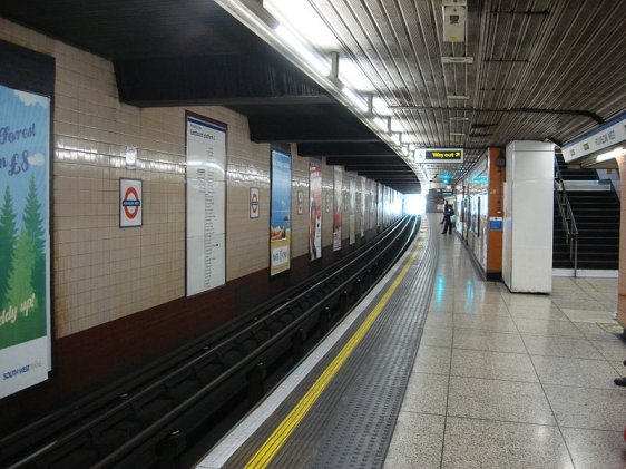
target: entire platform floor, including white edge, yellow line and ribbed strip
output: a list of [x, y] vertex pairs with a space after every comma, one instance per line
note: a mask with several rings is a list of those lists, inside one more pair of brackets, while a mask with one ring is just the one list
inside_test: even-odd
[[[428, 255], [408, 253], [410, 268], [391, 272], [199, 468], [626, 468], [617, 280], [554, 277], [550, 295], [511, 294], [438, 227], [424, 221], [417, 244]], [[402, 268], [345, 371], [307, 398]], [[397, 322], [400, 311], [412, 319]], [[394, 345], [388, 377], [375, 351]], [[307, 399], [296, 413], [309, 417], [293, 423]]]

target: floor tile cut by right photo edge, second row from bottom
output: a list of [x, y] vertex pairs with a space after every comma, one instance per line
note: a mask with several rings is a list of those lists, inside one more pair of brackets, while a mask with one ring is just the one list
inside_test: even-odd
[[560, 427], [594, 430], [624, 430], [626, 389], [570, 388], [544, 384]]

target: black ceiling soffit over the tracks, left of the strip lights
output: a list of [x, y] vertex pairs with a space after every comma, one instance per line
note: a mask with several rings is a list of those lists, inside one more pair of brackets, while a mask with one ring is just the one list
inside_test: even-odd
[[[0, 16], [111, 60], [123, 102], [226, 106], [248, 116], [253, 141], [295, 141], [301, 156], [384, 156], [405, 166], [354, 115], [211, 0], [3, 0]], [[419, 190], [419, 182], [410, 187]]]

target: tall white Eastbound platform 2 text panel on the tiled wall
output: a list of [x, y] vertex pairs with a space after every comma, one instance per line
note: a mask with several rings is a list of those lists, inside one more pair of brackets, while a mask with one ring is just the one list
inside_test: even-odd
[[187, 296], [226, 282], [226, 125], [188, 114]]

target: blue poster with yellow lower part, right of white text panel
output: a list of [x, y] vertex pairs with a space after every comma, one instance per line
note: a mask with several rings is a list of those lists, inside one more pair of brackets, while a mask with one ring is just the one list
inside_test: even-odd
[[272, 150], [270, 275], [291, 267], [291, 157]]

